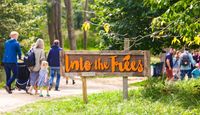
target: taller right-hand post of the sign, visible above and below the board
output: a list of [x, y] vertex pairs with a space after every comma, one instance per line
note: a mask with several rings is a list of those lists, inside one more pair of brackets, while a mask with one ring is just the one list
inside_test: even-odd
[[[124, 50], [129, 50], [130, 42], [128, 38], [124, 40]], [[123, 76], [123, 98], [128, 99], [128, 76]]]

